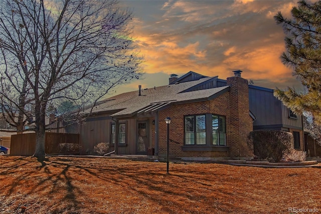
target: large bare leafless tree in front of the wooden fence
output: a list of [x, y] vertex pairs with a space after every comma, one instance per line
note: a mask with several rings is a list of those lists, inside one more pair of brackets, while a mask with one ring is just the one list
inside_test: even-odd
[[49, 106], [69, 100], [80, 111], [139, 78], [131, 19], [114, 0], [2, 1], [2, 110], [14, 109], [35, 124], [34, 156], [45, 156]]

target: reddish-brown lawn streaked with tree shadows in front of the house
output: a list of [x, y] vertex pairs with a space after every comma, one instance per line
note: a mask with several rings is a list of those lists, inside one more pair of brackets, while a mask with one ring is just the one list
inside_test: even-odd
[[321, 165], [258, 168], [107, 158], [0, 157], [1, 213], [321, 212]]

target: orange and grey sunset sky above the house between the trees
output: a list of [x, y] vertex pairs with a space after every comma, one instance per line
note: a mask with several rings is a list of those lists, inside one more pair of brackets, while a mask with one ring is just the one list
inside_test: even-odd
[[[168, 84], [170, 74], [195, 71], [226, 79], [233, 70], [254, 85], [299, 87], [280, 61], [282, 26], [273, 16], [290, 17], [297, 1], [120, 1], [133, 11], [134, 42], [144, 55], [142, 79], [119, 86], [125, 91]], [[112, 94], [114, 95], [114, 94]]]

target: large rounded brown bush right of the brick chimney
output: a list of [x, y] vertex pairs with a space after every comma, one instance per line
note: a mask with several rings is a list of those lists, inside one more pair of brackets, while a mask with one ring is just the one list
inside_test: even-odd
[[293, 150], [293, 141], [291, 133], [277, 130], [252, 131], [247, 137], [254, 155], [262, 160], [272, 158], [275, 162], [280, 162], [285, 154]]

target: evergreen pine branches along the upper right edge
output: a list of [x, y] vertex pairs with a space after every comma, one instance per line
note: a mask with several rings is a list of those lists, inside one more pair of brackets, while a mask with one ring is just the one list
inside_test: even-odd
[[304, 113], [304, 126], [321, 145], [321, 1], [299, 1], [291, 10], [291, 18], [279, 12], [274, 19], [283, 26], [286, 52], [283, 64], [293, 69], [306, 90], [287, 87], [276, 89], [274, 95], [293, 112]]

